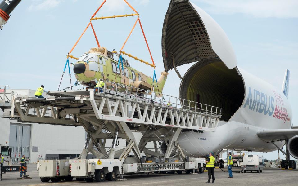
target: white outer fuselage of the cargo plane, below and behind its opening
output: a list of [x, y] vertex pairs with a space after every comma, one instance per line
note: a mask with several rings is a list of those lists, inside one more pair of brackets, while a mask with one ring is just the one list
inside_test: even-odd
[[[203, 156], [224, 148], [271, 152], [277, 148], [261, 140], [257, 132], [291, 128], [292, 111], [285, 95], [260, 78], [239, 71], [245, 86], [241, 107], [228, 122], [220, 121], [214, 132], [182, 132], [178, 141], [186, 155]], [[282, 147], [285, 143], [278, 141], [275, 144]]]

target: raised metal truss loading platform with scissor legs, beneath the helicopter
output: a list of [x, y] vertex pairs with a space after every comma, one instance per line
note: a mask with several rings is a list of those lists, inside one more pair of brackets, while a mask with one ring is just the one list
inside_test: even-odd
[[[10, 89], [0, 89], [0, 108], [4, 111], [0, 117], [19, 122], [83, 126], [88, 132], [88, 139], [82, 159], [89, 152], [97, 157], [107, 157], [113, 151], [113, 156], [121, 158], [122, 162], [130, 151], [138, 160], [142, 152], [168, 158], [176, 148], [176, 152], [183, 154], [177, 144], [182, 130], [214, 131], [221, 117], [221, 108], [218, 107], [114, 82], [106, 81], [105, 84], [102, 93], [93, 89], [49, 91], [48, 98], [32, 98], [18, 95]], [[142, 132], [139, 144], [132, 130]], [[115, 137], [113, 134], [116, 132]], [[128, 145], [124, 149], [107, 152], [106, 139], [113, 138], [125, 139]], [[164, 153], [157, 148], [155, 151], [148, 150], [145, 146], [149, 141], [155, 144], [164, 141], [168, 148]], [[98, 151], [93, 149], [94, 145]]]

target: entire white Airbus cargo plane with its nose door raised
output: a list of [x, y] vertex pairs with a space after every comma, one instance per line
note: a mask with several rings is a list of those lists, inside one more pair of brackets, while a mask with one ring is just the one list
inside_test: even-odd
[[[215, 132], [180, 134], [178, 142], [187, 155], [222, 149], [271, 152], [286, 145], [282, 168], [295, 168], [289, 158], [291, 154], [298, 159], [298, 129], [292, 128], [288, 70], [280, 90], [240, 69], [223, 29], [188, 0], [170, 1], [162, 55], [165, 71], [174, 69], [182, 79], [180, 98], [222, 108]], [[182, 78], [176, 67], [192, 62]]]

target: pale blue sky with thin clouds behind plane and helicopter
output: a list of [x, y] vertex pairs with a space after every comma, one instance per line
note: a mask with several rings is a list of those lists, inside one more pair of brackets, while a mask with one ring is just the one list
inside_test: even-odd
[[[238, 66], [281, 89], [286, 69], [289, 69], [289, 101], [293, 123], [298, 126], [298, 1], [296, 0], [193, 0], [225, 31], [237, 56]], [[75, 44], [90, 17], [102, 0], [23, 0], [12, 11], [0, 31], [0, 85], [12, 89], [57, 90], [66, 55]], [[164, 70], [161, 54], [161, 31], [169, 0], [130, 0], [140, 13], [156, 75]], [[122, 0], [108, 0], [97, 17], [134, 13]], [[136, 17], [96, 20], [94, 29], [101, 46], [119, 51]], [[88, 28], [71, 53], [80, 56], [97, 47], [93, 32]], [[140, 27], [137, 25], [123, 51], [150, 61]], [[153, 69], [128, 59], [130, 64], [152, 77]], [[75, 60], [70, 60], [74, 62]], [[72, 66], [73, 67], [73, 66]], [[72, 72], [71, 67], [71, 72]], [[178, 67], [183, 75], [190, 65]], [[169, 71], [164, 94], [178, 97], [180, 80]], [[72, 84], [75, 76], [71, 73]], [[68, 71], [61, 87], [70, 86]], [[268, 159], [277, 152], [262, 153]], [[282, 156], [281, 156], [282, 157]]]

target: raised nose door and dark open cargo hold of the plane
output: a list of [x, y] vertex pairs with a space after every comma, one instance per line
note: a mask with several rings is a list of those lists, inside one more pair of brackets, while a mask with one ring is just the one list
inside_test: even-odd
[[245, 88], [223, 29], [192, 2], [171, 0], [161, 46], [166, 72], [174, 69], [178, 73], [177, 66], [196, 62], [183, 78], [178, 73], [182, 79], [179, 97], [222, 108], [221, 119], [228, 121], [241, 106]]

